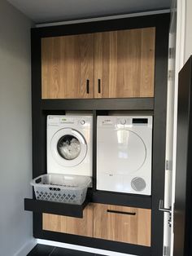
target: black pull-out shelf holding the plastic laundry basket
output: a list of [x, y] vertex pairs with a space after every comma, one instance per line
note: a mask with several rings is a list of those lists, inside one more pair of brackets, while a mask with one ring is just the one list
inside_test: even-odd
[[59, 214], [75, 218], [83, 218], [83, 210], [88, 204], [89, 200], [85, 200], [82, 205], [72, 205], [24, 198], [24, 210], [33, 211], [33, 213]]

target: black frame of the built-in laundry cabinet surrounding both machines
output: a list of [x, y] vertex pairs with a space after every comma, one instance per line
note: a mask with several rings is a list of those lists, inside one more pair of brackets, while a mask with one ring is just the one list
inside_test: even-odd
[[[32, 29], [32, 117], [33, 117], [33, 178], [46, 174], [46, 115], [64, 114], [66, 110], [90, 110], [96, 117], [110, 110], [152, 113], [154, 116], [152, 196], [134, 196], [97, 192], [95, 185], [92, 201], [114, 205], [151, 208], [151, 247], [129, 245], [115, 241], [74, 236], [42, 230], [42, 214], [33, 213], [33, 235], [41, 239], [109, 249], [126, 254], [160, 256], [163, 253], [164, 214], [159, 212], [159, 200], [164, 198], [165, 133], [168, 81], [169, 14], [138, 16], [117, 20], [59, 25]], [[70, 34], [96, 33], [120, 29], [155, 27], [155, 97], [140, 99], [41, 99], [41, 38]], [[94, 136], [94, 155], [96, 137]], [[96, 177], [96, 158], [93, 161]], [[95, 183], [94, 183], [95, 184]], [[33, 195], [34, 199], [34, 195]]]

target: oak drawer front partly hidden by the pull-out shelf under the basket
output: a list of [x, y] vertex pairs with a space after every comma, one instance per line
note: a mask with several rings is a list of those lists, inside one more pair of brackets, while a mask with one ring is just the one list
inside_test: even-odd
[[42, 229], [93, 237], [93, 204], [85, 207], [83, 216], [83, 218], [73, 218], [55, 214], [43, 214]]

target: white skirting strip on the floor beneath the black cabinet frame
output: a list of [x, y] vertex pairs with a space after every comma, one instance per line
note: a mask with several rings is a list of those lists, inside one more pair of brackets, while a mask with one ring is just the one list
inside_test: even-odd
[[81, 250], [81, 251], [92, 253], [92, 254], [93, 253], [94, 254], [104, 254], [106, 256], [137, 256], [137, 255], [133, 255], [133, 254], [120, 254], [120, 253], [111, 252], [111, 251], [104, 250], [104, 249], [94, 249], [94, 248], [85, 247], [85, 246], [64, 244], [64, 243], [60, 243], [60, 242], [48, 241], [48, 240], [42, 240], [42, 239], [37, 239], [37, 244], [50, 245], [50, 246], [55, 246], [55, 247], [67, 248], [67, 249], [76, 249], [76, 250]]

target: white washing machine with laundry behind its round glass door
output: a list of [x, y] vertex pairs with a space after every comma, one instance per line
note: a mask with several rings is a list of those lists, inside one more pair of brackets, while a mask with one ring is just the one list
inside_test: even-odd
[[92, 176], [93, 117], [47, 116], [47, 173]]

